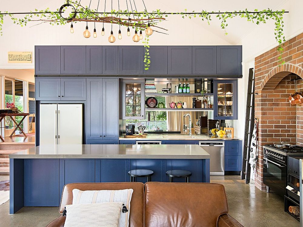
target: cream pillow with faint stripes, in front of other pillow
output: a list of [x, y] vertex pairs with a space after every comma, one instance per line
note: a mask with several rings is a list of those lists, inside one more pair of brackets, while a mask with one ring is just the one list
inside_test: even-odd
[[64, 227], [118, 227], [122, 202], [66, 205]]

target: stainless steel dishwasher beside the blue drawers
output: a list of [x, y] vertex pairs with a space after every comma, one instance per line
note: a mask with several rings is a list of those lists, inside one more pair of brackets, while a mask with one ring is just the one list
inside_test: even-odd
[[210, 154], [210, 175], [224, 176], [224, 141], [199, 141], [199, 146]]

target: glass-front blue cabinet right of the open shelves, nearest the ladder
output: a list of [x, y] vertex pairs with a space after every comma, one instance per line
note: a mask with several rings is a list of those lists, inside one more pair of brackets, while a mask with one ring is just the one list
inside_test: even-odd
[[214, 81], [214, 119], [238, 119], [237, 80]]

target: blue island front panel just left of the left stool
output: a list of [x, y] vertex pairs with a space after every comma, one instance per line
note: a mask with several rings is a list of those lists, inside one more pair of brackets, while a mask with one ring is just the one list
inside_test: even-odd
[[131, 159], [95, 159], [96, 182], [129, 182]]

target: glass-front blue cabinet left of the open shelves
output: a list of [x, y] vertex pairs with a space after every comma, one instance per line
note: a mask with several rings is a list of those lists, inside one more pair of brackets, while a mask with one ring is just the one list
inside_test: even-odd
[[144, 80], [122, 81], [122, 119], [145, 118]]

